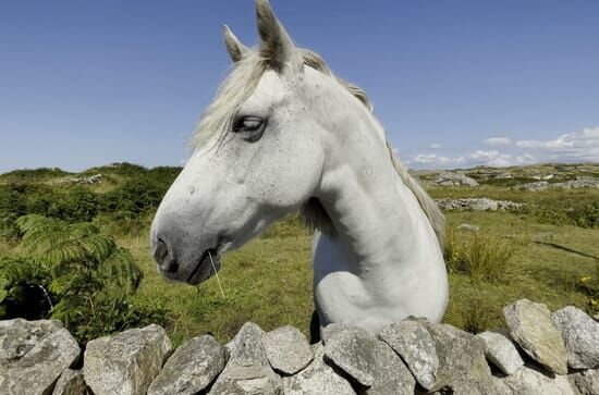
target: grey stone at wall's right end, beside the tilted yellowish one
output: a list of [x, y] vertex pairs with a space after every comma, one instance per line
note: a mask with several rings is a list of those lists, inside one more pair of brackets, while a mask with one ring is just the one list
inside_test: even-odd
[[599, 323], [583, 310], [564, 307], [551, 314], [567, 351], [567, 365], [573, 369], [599, 368]]

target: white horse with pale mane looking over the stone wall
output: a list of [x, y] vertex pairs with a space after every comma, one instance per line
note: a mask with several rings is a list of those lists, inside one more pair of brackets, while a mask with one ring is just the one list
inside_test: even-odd
[[320, 328], [440, 321], [443, 215], [394, 157], [365, 92], [295, 47], [268, 0], [256, 0], [256, 11], [258, 47], [224, 27], [235, 67], [156, 213], [158, 269], [199, 284], [220, 269], [221, 254], [300, 210], [316, 230]]

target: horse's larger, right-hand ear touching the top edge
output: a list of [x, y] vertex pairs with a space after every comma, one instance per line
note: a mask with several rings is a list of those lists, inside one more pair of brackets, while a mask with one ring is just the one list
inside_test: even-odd
[[268, 59], [270, 65], [279, 72], [282, 72], [285, 65], [292, 71], [302, 71], [304, 65], [302, 57], [274, 15], [269, 0], [256, 0], [256, 17], [260, 35], [260, 52]]

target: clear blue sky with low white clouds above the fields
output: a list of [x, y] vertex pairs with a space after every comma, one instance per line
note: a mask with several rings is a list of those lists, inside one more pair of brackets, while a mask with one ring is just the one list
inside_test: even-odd
[[[414, 168], [599, 161], [599, 2], [271, 0]], [[252, 0], [0, 3], [0, 172], [184, 161]]]

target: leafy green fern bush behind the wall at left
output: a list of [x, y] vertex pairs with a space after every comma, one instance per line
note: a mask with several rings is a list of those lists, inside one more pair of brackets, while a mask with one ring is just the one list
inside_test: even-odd
[[80, 342], [166, 311], [131, 303], [142, 272], [129, 250], [89, 223], [29, 214], [16, 224], [24, 255], [0, 261], [0, 318], [54, 318]]

